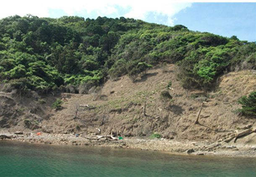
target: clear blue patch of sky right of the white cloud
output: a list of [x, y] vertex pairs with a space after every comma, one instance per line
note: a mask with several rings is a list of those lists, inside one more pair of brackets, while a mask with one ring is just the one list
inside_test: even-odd
[[174, 17], [193, 31], [256, 41], [256, 3], [193, 3]]

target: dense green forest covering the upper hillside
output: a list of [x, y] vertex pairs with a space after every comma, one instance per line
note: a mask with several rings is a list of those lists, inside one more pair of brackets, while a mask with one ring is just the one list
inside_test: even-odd
[[184, 88], [207, 90], [224, 72], [256, 69], [256, 44], [123, 17], [0, 20], [0, 81], [19, 90], [86, 93], [167, 63]]

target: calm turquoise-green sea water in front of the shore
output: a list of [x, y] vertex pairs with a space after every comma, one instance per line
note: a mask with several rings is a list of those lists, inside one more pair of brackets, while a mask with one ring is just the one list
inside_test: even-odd
[[256, 158], [0, 141], [0, 176], [256, 177]]

